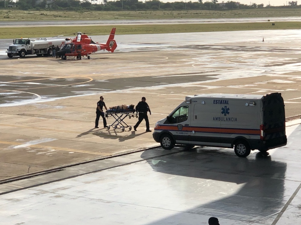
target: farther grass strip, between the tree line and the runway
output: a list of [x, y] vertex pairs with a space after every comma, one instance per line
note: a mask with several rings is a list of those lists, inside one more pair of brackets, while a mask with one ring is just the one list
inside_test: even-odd
[[182, 10], [182, 11], [23, 11], [0, 10], [1, 21], [68, 19], [185, 19], [301, 16], [301, 9]]

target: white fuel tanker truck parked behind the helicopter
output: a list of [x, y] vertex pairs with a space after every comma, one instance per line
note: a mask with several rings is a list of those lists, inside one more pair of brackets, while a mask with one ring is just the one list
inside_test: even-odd
[[52, 55], [52, 45], [63, 46], [67, 43], [64, 38], [20, 38], [14, 39], [14, 44], [10, 45], [6, 53], [9, 58], [13, 56], [20, 56], [24, 58], [25, 55]]

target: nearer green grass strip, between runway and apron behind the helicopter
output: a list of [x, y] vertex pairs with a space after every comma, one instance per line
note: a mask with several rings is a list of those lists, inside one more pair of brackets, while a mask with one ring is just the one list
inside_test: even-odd
[[[212, 31], [244, 31], [269, 29], [300, 29], [300, 22], [263, 23], [220, 23], [220, 24], [171, 24], [171, 25], [122, 25], [116, 26], [116, 35], [126, 34], [160, 34], [181, 32], [212, 32]], [[1, 28], [0, 38], [33, 38], [54, 37], [72, 34], [78, 31], [91, 35], [109, 34], [112, 26], [68, 26], [68, 27], [33, 27], [33, 28]]]

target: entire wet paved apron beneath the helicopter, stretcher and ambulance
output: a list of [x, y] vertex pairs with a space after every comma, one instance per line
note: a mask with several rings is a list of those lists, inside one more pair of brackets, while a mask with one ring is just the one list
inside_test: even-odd
[[[161, 148], [144, 152], [158, 143], [144, 132], [143, 122], [137, 132], [122, 132], [94, 129], [94, 121], [100, 95], [109, 107], [136, 105], [145, 96], [151, 127], [186, 95], [201, 93], [281, 92], [286, 116], [297, 115], [300, 34], [285, 30], [120, 35], [115, 38], [116, 52], [95, 53], [81, 61], [10, 59], [3, 54], [10, 41], [2, 40], [0, 181], [55, 168], [63, 173], [0, 185], [6, 193], [0, 200], [2, 221], [40, 224], [58, 217], [60, 208], [61, 218], [77, 224], [206, 224], [209, 216], [227, 225], [299, 224], [299, 121], [287, 124], [288, 145], [271, 150], [263, 161], [257, 160], [257, 152], [241, 159], [231, 149], [218, 148], [177, 148], [170, 156]], [[106, 38], [93, 40], [103, 43]], [[136, 121], [126, 120], [131, 126]], [[116, 161], [95, 161], [135, 151], [140, 152]], [[60, 169], [83, 161], [94, 163]], [[120, 162], [129, 165], [119, 167]], [[94, 166], [104, 171], [90, 168]], [[95, 173], [65, 180], [85, 171]], [[64, 181], [39, 186], [51, 182], [50, 177]], [[107, 217], [103, 211], [111, 214]], [[79, 217], [67, 216], [71, 212]], [[51, 224], [62, 224], [61, 218]]]

